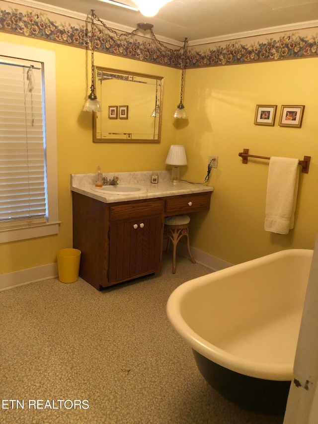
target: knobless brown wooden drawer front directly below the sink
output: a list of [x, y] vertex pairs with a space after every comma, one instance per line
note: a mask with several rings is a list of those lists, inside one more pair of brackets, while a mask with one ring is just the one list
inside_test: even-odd
[[163, 200], [128, 203], [110, 207], [110, 221], [145, 218], [163, 213]]

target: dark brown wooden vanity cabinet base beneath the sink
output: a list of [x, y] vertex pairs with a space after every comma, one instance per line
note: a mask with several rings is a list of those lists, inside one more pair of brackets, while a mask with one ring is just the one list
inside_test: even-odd
[[73, 247], [79, 276], [100, 290], [159, 271], [162, 199], [104, 203], [73, 192]]

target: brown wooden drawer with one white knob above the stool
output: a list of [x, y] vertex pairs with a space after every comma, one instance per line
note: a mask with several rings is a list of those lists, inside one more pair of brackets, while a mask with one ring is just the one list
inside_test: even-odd
[[182, 215], [210, 209], [211, 191], [206, 193], [180, 195], [165, 199], [165, 216]]

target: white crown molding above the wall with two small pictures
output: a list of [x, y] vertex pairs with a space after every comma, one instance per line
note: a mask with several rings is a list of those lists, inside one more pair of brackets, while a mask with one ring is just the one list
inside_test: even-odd
[[200, 40], [192, 40], [188, 42], [188, 46], [198, 46], [202, 44], [212, 44], [218, 43], [221, 41], [230, 41], [236, 40], [240, 38], [248, 38], [255, 37], [258, 35], [266, 35], [266, 34], [275, 34], [277, 32], [286, 32], [286, 31], [297, 31], [300, 29], [306, 28], [315, 28], [318, 27], [318, 20], [312, 20], [307, 22], [297, 22], [293, 24], [280, 25], [280, 26], [271, 26], [268, 28], [260, 28], [252, 31], [244, 31], [244, 32], [236, 32], [233, 34], [220, 35], [218, 37], [210, 37], [210, 38], [202, 38]]

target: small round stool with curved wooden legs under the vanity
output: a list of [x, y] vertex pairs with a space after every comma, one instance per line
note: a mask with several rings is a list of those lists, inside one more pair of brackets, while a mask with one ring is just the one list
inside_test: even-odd
[[168, 216], [164, 219], [164, 234], [167, 235], [167, 248], [166, 253], [169, 251], [170, 241], [173, 246], [173, 256], [172, 256], [172, 274], [175, 274], [175, 254], [176, 248], [179, 240], [182, 236], [187, 238], [187, 249], [190, 259], [193, 263], [195, 262], [194, 257], [190, 252], [190, 242], [189, 242], [189, 222], [190, 217], [188, 215], [176, 215], [176, 216]]

